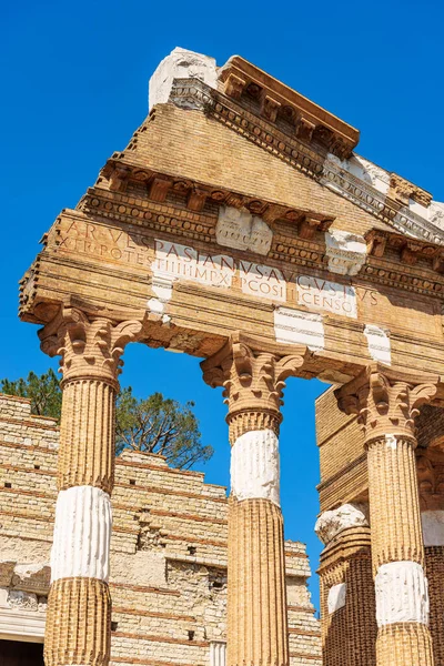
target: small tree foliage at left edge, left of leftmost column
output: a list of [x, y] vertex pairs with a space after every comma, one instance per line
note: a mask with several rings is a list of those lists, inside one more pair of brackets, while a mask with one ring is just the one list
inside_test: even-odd
[[30, 398], [32, 414], [52, 416], [60, 421], [62, 392], [59, 379], [52, 369], [41, 375], [30, 372], [26, 380], [23, 377], [13, 382], [1, 380], [0, 384], [2, 393]]

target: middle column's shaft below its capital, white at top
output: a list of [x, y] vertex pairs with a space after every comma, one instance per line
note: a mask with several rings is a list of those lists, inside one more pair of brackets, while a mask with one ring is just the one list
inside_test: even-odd
[[[239, 448], [243, 452], [239, 454]], [[250, 431], [232, 448], [229, 501], [230, 664], [287, 664], [278, 437]]]

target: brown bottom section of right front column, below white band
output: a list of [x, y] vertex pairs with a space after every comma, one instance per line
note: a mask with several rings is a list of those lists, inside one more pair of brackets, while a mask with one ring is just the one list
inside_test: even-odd
[[386, 625], [377, 632], [377, 666], [434, 666], [428, 627], [415, 622]]

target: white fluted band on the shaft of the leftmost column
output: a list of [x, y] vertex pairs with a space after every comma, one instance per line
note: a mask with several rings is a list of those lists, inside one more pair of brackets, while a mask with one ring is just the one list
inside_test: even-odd
[[57, 498], [51, 582], [74, 576], [108, 581], [112, 514], [108, 493], [92, 486]]

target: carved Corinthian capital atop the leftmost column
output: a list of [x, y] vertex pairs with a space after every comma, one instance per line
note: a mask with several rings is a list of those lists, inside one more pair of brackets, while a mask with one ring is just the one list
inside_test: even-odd
[[63, 382], [97, 379], [118, 387], [117, 379], [123, 365], [121, 355], [141, 329], [142, 322], [135, 320], [115, 323], [105, 317], [89, 317], [75, 307], [64, 307], [39, 331], [40, 346], [49, 356], [61, 356]]

